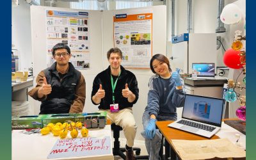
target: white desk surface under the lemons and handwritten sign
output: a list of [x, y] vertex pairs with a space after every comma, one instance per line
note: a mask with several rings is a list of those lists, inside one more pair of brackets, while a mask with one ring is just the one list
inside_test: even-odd
[[[12, 160], [46, 160], [49, 152], [56, 143], [59, 136], [53, 136], [52, 133], [42, 136], [41, 133], [24, 134], [24, 130], [12, 131]], [[69, 134], [68, 134], [69, 135]], [[69, 135], [70, 136], [70, 135]], [[103, 138], [110, 136], [111, 125], [106, 125], [104, 129], [89, 129], [89, 137]], [[77, 137], [81, 137], [79, 133]], [[111, 147], [112, 147], [111, 138]], [[99, 156], [84, 156], [84, 157], [67, 157], [62, 159], [114, 159], [113, 152], [111, 154]], [[51, 160], [51, 159], [47, 159]]]

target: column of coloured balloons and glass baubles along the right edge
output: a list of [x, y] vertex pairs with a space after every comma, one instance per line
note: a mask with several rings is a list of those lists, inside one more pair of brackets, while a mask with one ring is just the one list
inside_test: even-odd
[[[243, 14], [239, 7], [234, 4], [230, 3], [227, 4], [220, 15], [220, 20], [224, 24], [237, 24], [243, 17]], [[245, 17], [244, 17], [245, 20]], [[245, 24], [244, 24], [244, 30], [245, 30]], [[242, 36], [242, 31], [235, 31], [234, 36], [234, 42], [232, 43], [232, 47], [225, 51], [225, 54], [223, 56], [223, 63], [229, 67], [234, 69], [241, 69], [241, 73], [239, 76], [243, 73], [243, 83], [246, 83], [245, 78], [245, 65], [246, 65], [246, 51], [245, 47], [243, 47], [242, 40], [246, 40], [246, 36]], [[238, 76], [238, 77], [239, 77]], [[237, 77], [237, 79], [238, 79]], [[236, 79], [236, 80], [237, 80]], [[236, 88], [240, 88], [241, 91], [245, 87], [241, 85], [239, 82], [236, 81], [236, 83], [233, 83], [233, 81], [230, 79], [228, 80], [228, 91], [225, 93], [225, 100], [228, 102], [234, 102], [237, 99], [240, 102], [240, 107], [236, 110], [236, 115], [241, 120], [246, 120], [246, 99], [245, 96], [240, 96], [239, 93], [235, 91]]]

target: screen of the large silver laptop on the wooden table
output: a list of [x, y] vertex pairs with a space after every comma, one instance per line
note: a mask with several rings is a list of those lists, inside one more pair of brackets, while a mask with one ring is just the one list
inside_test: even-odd
[[182, 118], [221, 126], [224, 100], [186, 94]]

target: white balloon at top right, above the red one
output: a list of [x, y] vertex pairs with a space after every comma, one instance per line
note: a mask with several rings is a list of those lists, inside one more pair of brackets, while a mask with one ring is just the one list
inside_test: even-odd
[[242, 13], [236, 4], [227, 4], [220, 15], [221, 22], [225, 24], [236, 24], [242, 19]]

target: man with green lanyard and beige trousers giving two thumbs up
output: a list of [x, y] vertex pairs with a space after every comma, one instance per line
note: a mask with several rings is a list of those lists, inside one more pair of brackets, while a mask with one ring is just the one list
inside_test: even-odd
[[111, 123], [120, 125], [124, 130], [126, 159], [134, 159], [132, 146], [137, 125], [132, 115], [132, 105], [139, 97], [136, 77], [122, 67], [122, 51], [111, 48], [107, 54], [109, 67], [100, 72], [93, 81], [92, 102], [99, 109], [107, 111]]

